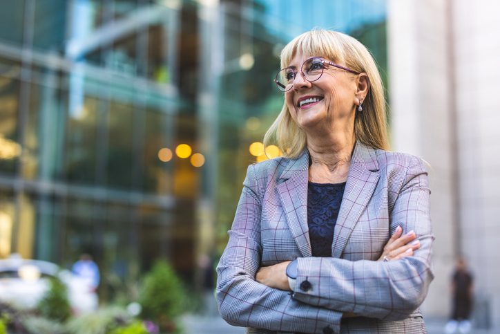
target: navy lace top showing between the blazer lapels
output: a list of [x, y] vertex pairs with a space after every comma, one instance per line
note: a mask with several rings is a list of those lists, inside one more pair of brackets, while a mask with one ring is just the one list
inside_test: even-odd
[[307, 225], [313, 257], [331, 257], [344, 183], [313, 183], [307, 187]]

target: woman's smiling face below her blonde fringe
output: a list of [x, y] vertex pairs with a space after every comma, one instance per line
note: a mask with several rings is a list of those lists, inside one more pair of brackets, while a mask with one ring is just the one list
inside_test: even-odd
[[[358, 102], [356, 75], [326, 66], [318, 80], [309, 82], [300, 73], [300, 66], [310, 57], [297, 53], [288, 64], [298, 71], [292, 89], [285, 93], [291, 118], [305, 131], [331, 131], [338, 127], [352, 129]], [[302, 102], [306, 100], [309, 101]]]

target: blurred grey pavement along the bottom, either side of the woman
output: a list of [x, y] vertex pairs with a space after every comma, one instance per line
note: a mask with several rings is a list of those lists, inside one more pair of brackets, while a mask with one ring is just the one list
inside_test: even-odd
[[[245, 328], [234, 327], [219, 315], [185, 315], [182, 319], [185, 334], [244, 334]], [[428, 334], [445, 334], [446, 319], [425, 319]], [[458, 331], [456, 333], [459, 333]], [[470, 334], [498, 334], [500, 329], [474, 328]]]

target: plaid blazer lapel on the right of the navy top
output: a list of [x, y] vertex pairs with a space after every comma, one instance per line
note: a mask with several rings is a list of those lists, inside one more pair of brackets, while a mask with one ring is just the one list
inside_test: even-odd
[[356, 142], [331, 244], [332, 257], [342, 255], [354, 226], [372, 198], [379, 177], [375, 150]]

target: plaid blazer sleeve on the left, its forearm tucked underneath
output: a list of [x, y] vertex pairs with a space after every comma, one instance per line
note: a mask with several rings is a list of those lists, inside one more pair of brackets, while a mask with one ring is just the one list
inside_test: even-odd
[[229, 242], [217, 267], [216, 297], [224, 320], [234, 326], [271, 331], [329, 333], [340, 331], [342, 313], [311, 306], [291, 297], [291, 292], [269, 288], [255, 280], [260, 268], [261, 202], [257, 178], [250, 166], [229, 231]]

